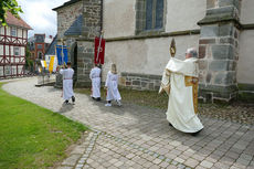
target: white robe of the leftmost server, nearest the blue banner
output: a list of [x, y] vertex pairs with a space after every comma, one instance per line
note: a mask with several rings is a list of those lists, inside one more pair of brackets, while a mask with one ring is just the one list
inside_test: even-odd
[[73, 93], [73, 68], [60, 70], [60, 74], [63, 75], [63, 98], [68, 101]]

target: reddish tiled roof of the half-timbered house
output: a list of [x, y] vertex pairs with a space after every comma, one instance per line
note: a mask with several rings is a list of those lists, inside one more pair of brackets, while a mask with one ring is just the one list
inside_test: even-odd
[[11, 12], [7, 11], [7, 24], [8, 25], [15, 25], [21, 27], [28, 30], [32, 30], [32, 28], [24, 22], [21, 18], [15, 18]]

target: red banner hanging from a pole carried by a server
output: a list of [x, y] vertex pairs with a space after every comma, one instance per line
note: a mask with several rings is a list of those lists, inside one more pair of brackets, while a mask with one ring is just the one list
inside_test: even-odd
[[99, 47], [99, 38], [94, 39], [94, 63], [95, 64], [104, 64], [104, 55], [105, 55], [105, 39], [100, 41]]

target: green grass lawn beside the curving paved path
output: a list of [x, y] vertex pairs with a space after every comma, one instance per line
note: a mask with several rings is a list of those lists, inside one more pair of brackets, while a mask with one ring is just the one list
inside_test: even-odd
[[[12, 96], [0, 83], [0, 168], [49, 168], [66, 157], [87, 128]], [[53, 101], [52, 101], [53, 102]]]

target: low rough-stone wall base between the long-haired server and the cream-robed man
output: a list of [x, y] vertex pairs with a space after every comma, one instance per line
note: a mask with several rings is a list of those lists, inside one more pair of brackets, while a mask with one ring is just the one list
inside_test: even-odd
[[138, 91], [159, 91], [161, 76], [123, 72], [119, 85]]

